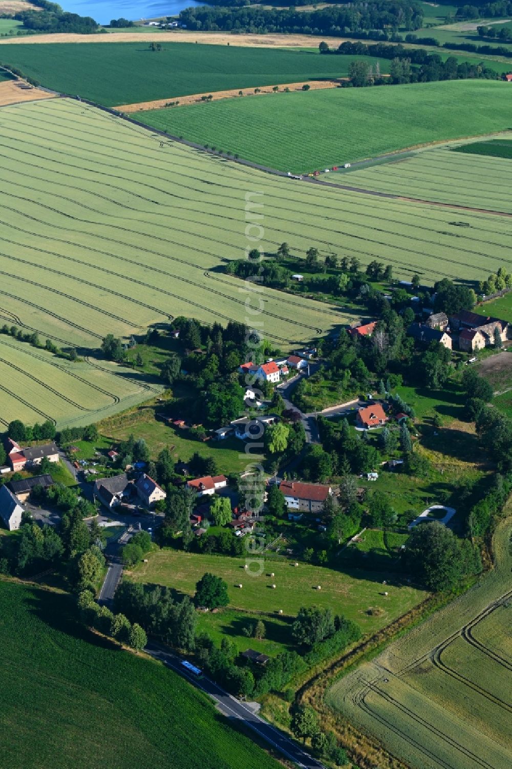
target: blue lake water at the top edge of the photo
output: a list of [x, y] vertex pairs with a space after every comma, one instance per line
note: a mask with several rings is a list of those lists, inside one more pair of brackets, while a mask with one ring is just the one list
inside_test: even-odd
[[81, 16], [92, 16], [100, 24], [108, 24], [111, 18], [129, 18], [136, 22], [139, 18], [175, 16], [184, 8], [193, 5], [205, 5], [194, 0], [61, 0], [65, 11]]

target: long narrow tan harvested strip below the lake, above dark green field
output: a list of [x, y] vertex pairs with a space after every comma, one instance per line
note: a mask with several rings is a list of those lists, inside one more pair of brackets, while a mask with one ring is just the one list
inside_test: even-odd
[[318, 48], [324, 40], [337, 48], [344, 38], [323, 38], [311, 35], [230, 35], [227, 32], [109, 32], [105, 35], [24, 35], [5, 38], [0, 45], [26, 45], [27, 43], [136, 43], [136, 42], [209, 43], [210, 45], [249, 45], [262, 48]]

